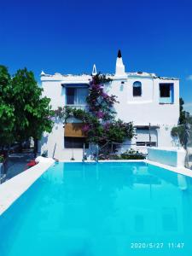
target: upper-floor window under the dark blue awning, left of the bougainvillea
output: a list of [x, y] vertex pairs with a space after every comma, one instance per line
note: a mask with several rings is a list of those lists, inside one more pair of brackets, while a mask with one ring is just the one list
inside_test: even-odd
[[66, 87], [67, 105], [85, 105], [88, 88]]

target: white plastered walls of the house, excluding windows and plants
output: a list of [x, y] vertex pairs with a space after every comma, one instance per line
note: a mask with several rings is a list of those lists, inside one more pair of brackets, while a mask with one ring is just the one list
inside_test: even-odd
[[[89, 83], [91, 76], [61, 76], [55, 74], [53, 76], [44, 75], [41, 77], [44, 96], [51, 99], [50, 104], [53, 109], [64, 107], [66, 104], [65, 88], [61, 86], [63, 83]], [[133, 125], [157, 125], [158, 146], [172, 146], [171, 130], [172, 126], [177, 125], [179, 117], [179, 81], [176, 79], [157, 79], [148, 75], [126, 74], [126, 77], [112, 77], [113, 81], [105, 85], [105, 90], [109, 95], [118, 96], [119, 103], [115, 103], [114, 108], [117, 111], [117, 118], [123, 119], [125, 122], [133, 122]], [[132, 84], [135, 81], [142, 83], [142, 96], [132, 96]], [[122, 84], [124, 82], [124, 84]], [[160, 83], [174, 84], [174, 103], [160, 104]], [[144, 135], [143, 135], [144, 136]], [[55, 123], [53, 131], [48, 135], [44, 134], [42, 140], [42, 150], [49, 151], [49, 157], [52, 156], [55, 148], [55, 157], [59, 159], [70, 159], [72, 149], [64, 148], [64, 129], [62, 123]], [[133, 138], [132, 143], [136, 143]], [[124, 146], [123, 149], [130, 148]], [[143, 149], [142, 147], [139, 147]], [[121, 150], [122, 151], [122, 150]], [[76, 160], [82, 159], [82, 149], [75, 149]]]

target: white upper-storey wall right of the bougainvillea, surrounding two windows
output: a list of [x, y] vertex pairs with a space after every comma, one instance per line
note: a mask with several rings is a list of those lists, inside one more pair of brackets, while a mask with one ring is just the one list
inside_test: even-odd
[[[132, 84], [142, 82], [142, 96], [132, 96]], [[177, 125], [179, 116], [178, 80], [174, 83], [174, 104], [159, 103], [159, 83], [170, 83], [170, 80], [128, 77], [125, 84], [121, 80], [114, 80], [106, 86], [109, 94], [118, 96], [119, 103], [115, 109], [120, 119], [126, 122], [133, 121], [134, 125]]]

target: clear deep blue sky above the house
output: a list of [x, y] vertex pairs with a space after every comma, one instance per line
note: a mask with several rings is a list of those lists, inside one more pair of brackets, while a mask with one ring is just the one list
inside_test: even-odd
[[126, 72], [181, 79], [192, 113], [192, 1], [1, 1], [0, 63], [10, 73], [113, 73], [118, 49]]

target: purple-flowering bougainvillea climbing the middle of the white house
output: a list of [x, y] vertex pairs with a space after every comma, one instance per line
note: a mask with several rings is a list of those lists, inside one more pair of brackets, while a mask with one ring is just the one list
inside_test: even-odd
[[126, 138], [131, 139], [134, 136], [131, 122], [115, 119], [113, 105], [118, 103], [117, 96], [108, 96], [103, 85], [110, 82], [111, 79], [107, 79], [105, 75], [97, 74], [93, 77], [86, 99], [86, 110], [64, 107], [55, 111], [56, 116], [64, 119], [64, 124], [70, 117], [80, 119], [89, 143], [123, 143]]

